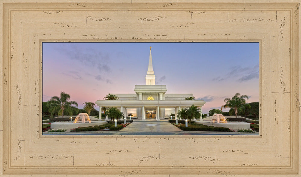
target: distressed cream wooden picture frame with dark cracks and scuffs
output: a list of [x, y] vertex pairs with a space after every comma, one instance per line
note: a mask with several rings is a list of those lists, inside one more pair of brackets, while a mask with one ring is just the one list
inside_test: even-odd
[[[300, 175], [300, 1], [173, 1], [0, 1], [1, 176]], [[41, 133], [42, 42], [248, 41], [259, 136]]]

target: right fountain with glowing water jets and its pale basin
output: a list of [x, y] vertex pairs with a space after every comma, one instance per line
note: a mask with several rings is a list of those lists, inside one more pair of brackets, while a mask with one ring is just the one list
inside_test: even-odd
[[222, 114], [213, 114], [213, 116], [211, 116], [210, 121], [196, 121], [194, 123], [203, 124], [207, 126], [211, 125], [214, 127], [226, 127], [234, 130], [250, 128], [250, 123], [247, 122], [227, 122], [225, 116]]

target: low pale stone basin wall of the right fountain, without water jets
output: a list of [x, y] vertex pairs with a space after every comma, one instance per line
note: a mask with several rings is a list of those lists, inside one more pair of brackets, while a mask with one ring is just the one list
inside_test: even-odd
[[212, 123], [210, 121], [196, 121], [194, 123], [203, 124], [203, 125], [207, 125], [207, 126], [211, 125], [214, 127], [226, 127], [226, 128], [230, 128], [233, 130], [250, 128], [250, 123], [247, 123], [247, 122]]

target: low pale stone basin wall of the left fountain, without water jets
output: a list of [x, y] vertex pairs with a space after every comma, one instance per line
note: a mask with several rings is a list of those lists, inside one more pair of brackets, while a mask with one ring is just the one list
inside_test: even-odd
[[70, 122], [53, 122], [50, 124], [51, 129], [67, 129], [71, 130], [73, 128], [78, 128], [78, 127], [88, 127], [88, 126], [95, 126], [95, 125], [104, 125], [107, 124], [107, 121], [91, 121], [85, 122], [85, 123], [73, 123], [73, 121]]

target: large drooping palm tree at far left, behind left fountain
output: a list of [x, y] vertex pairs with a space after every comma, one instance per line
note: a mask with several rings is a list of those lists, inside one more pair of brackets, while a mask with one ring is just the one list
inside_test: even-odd
[[49, 110], [52, 111], [60, 109], [59, 113], [61, 112], [63, 118], [64, 110], [67, 112], [71, 112], [75, 108], [75, 106], [73, 105], [78, 106], [78, 104], [75, 101], [69, 101], [69, 99], [70, 95], [65, 92], [61, 92], [60, 97], [52, 96], [51, 99], [48, 101]]

